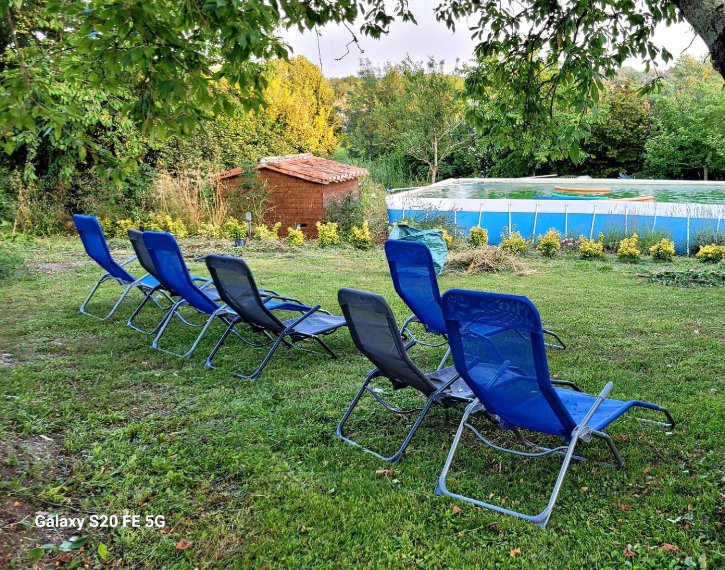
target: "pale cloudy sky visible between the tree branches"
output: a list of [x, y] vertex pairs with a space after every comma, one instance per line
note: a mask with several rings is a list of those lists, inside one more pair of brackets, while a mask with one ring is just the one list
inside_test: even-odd
[[[355, 31], [360, 51], [355, 45], [349, 46], [349, 54], [336, 61], [345, 54], [345, 44], [350, 41], [350, 32], [341, 25], [327, 25], [320, 28], [320, 46], [318, 50], [318, 38], [314, 31], [299, 33], [297, 30], [286, 30], [282, 36], [291, 45], [295, 55], [304, 55], [307, 59], [320, 64], [322, 59], [323, 74], [328, 77], [344, 77], [355, 75], [360, 67], [360, 59], [367, 58], [373, 65], [381, 65], [386, 61], [398, 62], [405, 59], [406, 55], [415, 61], [423, 61], [428, 56], [435, 59], [444, 59], [447, 70], [453, 70], [456, 59], [466, 62], [473, 56], [473, 46], [476, 42], [471, 40], [471, 33], [465, 22], [460, 22], [456, 32], [452, 33], [442, 22], [437, 22], [434, 17], [434, 7], [440, 4], [439, 0], [415, 0], [411, 2], [411, 9], [418, 20], [418, 25], [407, 22], [394, 22], [388, 36], [379, 40], [369, 38], [360, 34], [360, 25], [351, 26]], [[665, 46], [675, 59], [679, 54], [684, 53], [693, 57], [702, 57], [708, 50], [703, 41], [697, 37], [687, 22], [678, 23], [667, 27], [660, 25], [655, 32], [655, 44]], [[692, 45], [687, 47], [692, 41]], [[625, 65], [631, 65], [637, 69], [643, 69], [641, 61], [630, 59]]]

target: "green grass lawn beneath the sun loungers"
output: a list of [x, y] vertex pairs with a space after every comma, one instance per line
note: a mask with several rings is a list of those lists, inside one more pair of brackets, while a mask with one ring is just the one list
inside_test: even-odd
[[[553, 375], [595, 394], [613, 381], [611, 397], [660, 403], [679, 421], [671, 433], [640, 424], [634, 413], [613, 424], [609, 433], [626, 469], [596, 461], [573, 465], [550, 524], [539, 529], [434, 495], [463, 408], [434, 410], [390, 477], [376, 476], [384, 463], [336, 439], [336, 424], [370, 369], [346, 329], [328, 337], [339, 360], [282, 350], [260, 379], [242, 381], [225, 368], [252, 371], [263, 352], [228, 342], [219, 370], [202, 367], [221, 324], [191, 360], [150, 350], [149, 338], [123, 326], [138, 296], [112, 322], [78, 313], [99, 270], [85, 263], [77, 241], [23, 247], [36, 269], [0, 285], [0, 566], [31, 566], [31, 549], [58, 545], [71, 534], [88, 536], [83, 550], [49, 552], [40, 564], [725, 566], [722, 289], [647, 284], [635, 272], [652, 266], [613, 259], [532, 256], [529, 263], [539, 269], [534, 276], [441, 278], [442, 289], [529, 296], [544, 325], [569, 344], [550, 351]], [[191, 255], [213, 249], [185, 246]], [[128, 253], [123, 244], [115, 251]], [[347, 286], [384, 295], [400, 322], [408, 314], [381, 251], [249, 252], [247, 260], [260, 286], [333, 312], [339, 313], [337, 289]], [[191, 267], [204, 273], [201, 264]], [[117, 293], [110, 285], [104, 291], [96, 310], [107, 309]], [[139, 322], [155, 317], [149, 310]], [[165, 346], [186, 350], [195, 334], [176, 324]], [[442, 349], [412, 353], [431, 369]], [[391, 395], [386, 381], [379, 386]], [[415, 399], [406, 392], [392, 397]], [[405, 424], [365, 402], [349, 431], [368, 447], [392, 452]], [[497, 442], [511, 441], [482, 418], [476, 426]], [[600, 441], [578, 451], [608, 459]], [[465, 437], [449, 487], [534, 513], [545, 504], [559, 464], [557, 457], [502, 455]], [[163, 515], [167, 525], [56, 533], [28, 523], [36, 511], [75, 514], [70, 508]], [[178, 549], [181, 539], [193, 544]], [[107, 546], [105, 559], [100, 543]]]

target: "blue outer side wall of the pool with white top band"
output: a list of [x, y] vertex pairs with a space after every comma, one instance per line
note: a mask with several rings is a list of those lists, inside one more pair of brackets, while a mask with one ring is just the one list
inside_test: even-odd
[[463, 238], [473, 226], [479, 226], [480, 218], [480, 226], [488, 230], [489, 243], [493, 245], [500, 243], [501, 234], [509, 226], [526, 238], [542, 235], [550, 228], [569, 237], [583, 235], [594, 239], [600, 232], [629, 235], [637, 231], [642, 235], [656, 231], [674, 241], [678, 254], [686, 255], [698, 231], [725, 232], [724, 205], [566, 199], [416, 199], [415, 194], [388, 197], [387, 202], [391, 224], [404, 218], [446, 215]]

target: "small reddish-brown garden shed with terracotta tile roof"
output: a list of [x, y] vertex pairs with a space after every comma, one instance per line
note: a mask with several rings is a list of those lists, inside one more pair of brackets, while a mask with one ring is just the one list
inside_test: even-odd
[[[217, 175], [225, 186], [234, 184], [241, 169]], [[257, 178], [270, 190], [268, 224], [282, 223], [281, 235], [299, 224], [307, 238], [317, 237], [315, 222], [322, 220], [325, 206], [348, 194], [357, 194], [359, 178], [368, 170], [313, 154], [266, 157], [257, 165]]]

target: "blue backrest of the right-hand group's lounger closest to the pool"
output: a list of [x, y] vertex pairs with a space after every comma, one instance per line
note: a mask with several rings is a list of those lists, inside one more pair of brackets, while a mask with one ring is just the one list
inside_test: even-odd
[[443, 334], [446, 325], [431, 250], [418, 241], [385, 242], [393, 286], [400, 298], [429, 331]]

